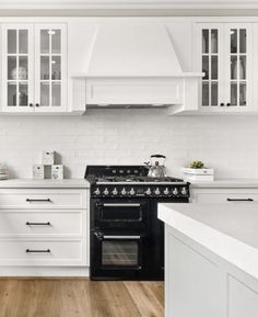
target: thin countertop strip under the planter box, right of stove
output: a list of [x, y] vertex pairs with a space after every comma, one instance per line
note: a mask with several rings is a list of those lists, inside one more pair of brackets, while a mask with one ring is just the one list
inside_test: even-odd
[[214, 181], [196, 181], [190, 182], [191, 188], [196, 189], [255, 189], [258, 188], [258, 179], [218, 179]]

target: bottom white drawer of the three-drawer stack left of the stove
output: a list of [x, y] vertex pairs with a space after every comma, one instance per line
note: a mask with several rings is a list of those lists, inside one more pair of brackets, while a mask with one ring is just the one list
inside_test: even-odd
[[1, 240], [0, 265], [77, 265], [84, 262], [81, 240]]

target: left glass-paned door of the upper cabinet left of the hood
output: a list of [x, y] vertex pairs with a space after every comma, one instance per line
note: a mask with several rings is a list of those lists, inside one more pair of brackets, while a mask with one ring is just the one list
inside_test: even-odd
[[33, 27], [4, 24], [2, 31], [3, 111], [33, 111]]

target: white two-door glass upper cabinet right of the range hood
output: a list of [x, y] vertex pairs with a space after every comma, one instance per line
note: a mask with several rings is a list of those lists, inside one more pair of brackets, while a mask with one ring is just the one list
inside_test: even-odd
[[253, 110], [253, 25], [200, 23], [199, 66], [204, 72], [200, 110], [248, 112]]

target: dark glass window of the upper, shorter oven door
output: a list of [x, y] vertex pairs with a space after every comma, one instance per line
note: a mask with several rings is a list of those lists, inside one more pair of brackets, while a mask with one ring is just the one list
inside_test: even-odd
[[101, 219], [104, 222], [140, 222], [140, 204], [104, 204], [101, 213]]

